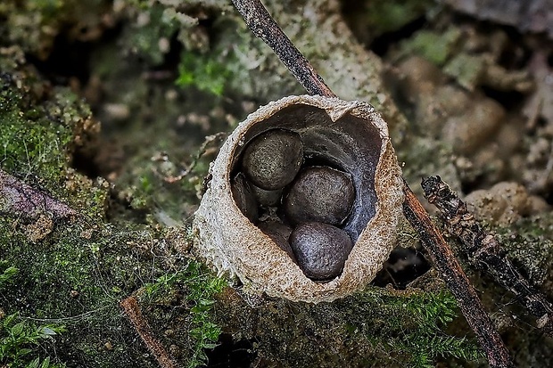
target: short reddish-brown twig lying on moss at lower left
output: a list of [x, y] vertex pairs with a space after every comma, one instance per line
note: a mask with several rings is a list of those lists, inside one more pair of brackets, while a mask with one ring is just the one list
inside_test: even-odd
[[146, 323], [140, 312], [136, 297], [130, 296], [124, 299], [121, 301], [120, 306], [123, 308], [128, 319], [133, 326], [135, 326], [136, 332], [138, 332], [148, 350], [155, 356], [160, 366], [162, 368], [177, 368], [177, 364], [171, 360], [165, 348], [163, 348], [161, 343], [153, 337], [150, 326], [148, 326], [148, 323]]

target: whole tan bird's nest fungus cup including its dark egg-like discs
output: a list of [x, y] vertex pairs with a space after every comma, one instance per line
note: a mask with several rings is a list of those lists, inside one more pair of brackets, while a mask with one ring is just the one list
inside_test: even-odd
[[[248, 150], [259, 172], [243, 168]], [[256, 151], [265, 152], [260, 160]], [[293, 175], [281, 175], [271, 166], [277, 161]], [[253, 184], [258, 174], [263, 188]], [[248, 292], [310, 303], [342, 298], [371, 282], [394, 247], [401, 169], [386, 123], [366, 102], [310, 95], [270, 102], [229, 135], [210, 176], [194, 215], [194, 250]]]

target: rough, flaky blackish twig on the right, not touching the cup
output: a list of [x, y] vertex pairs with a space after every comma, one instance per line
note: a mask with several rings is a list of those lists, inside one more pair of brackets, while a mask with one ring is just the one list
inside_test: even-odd
[[451, 191], [448, 184], [442, 182], [440, 176], [423, 180], [422, 187], [426, 199], [440, 209], [450, 233], [462, 242], [461, 250], [468, 260], [476, 268], [491, 274], [502, 287], [513, 292], [530, 313], [538, 317], [538, 327], [553, 336], [553, 306], [516, 270], [501, 250], [499, 242], [483, 231], [466, 209], [465, 202]]

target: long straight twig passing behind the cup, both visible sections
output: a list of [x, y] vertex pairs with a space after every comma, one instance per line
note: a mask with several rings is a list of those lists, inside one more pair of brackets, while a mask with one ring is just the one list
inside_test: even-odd
[[[248, 28], [273, 49], [278, 58], [298, 79], [301, 86], [310, 94], [335, 96], [310, 62], [285, 36], [282, 29], [278, 27], [276, 21], [271, 18], [259, 0], [233, 0], [233, 3], [238, 12], [243, 15]], [[465, 315], [466, 321], [475, 331], [476, 337], [488, 357], [490, 366], [494, 368], [514, 367], [508, 349], [500, 339], [499, 332], [493, 327], [490, 317], [486, 314], [480, 299], [476, 296], [474, 288], [468, 282], [465, 273], [458, 265], [457, 259], [443, 240], [442, 234], [433, 225], [420, 201], [405, 181], [404, 192], [406, 194], [406, 200], [403, 204], [405, 215], [411, 225], [417, 229], [423, 244], [425, 244], [433, 258], [434, 266], [442, 274], [451, 292], [458, 299], [459, 307]]]

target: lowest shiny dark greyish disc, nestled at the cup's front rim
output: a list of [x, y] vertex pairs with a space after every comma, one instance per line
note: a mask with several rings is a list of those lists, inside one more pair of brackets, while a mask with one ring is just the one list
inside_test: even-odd
[[305, 223], [293, 229], [290, 245], [298, 266], [313, 281], [329, 281], [342, 273], [353, 248], [342, 229], [321, 223]]

